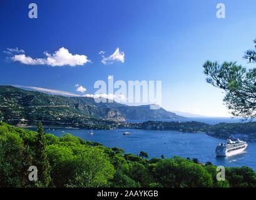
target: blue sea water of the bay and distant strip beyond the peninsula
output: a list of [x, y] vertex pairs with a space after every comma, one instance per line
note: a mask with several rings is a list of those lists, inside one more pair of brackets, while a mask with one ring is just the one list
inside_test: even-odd
[[[208, 124], [240, 123], [240, 119], [231, 118], [187, 118], [180, 121], [200, 121]], [[138, 121], [136, 121], [138, 122]], [[36, 128], [29, 128], [36, 131]], [[256, 171], [256, 143], [248, 142], [248, 148], [241, 154], [227, 158], [217, 158], [215, 148], [218, 143], [225, 143], [225, 139], [213, 138], [203, 133], [180, 133], [178, 131], [148, 131], [139, 129], [114, 129], [114, 130], [87, 130], [87, 129], [44, 129], [46, 133], [61, 136], [64, 133], [72, 134], [86, 141], [94, 141], [110, 148], [118, 147], [126, 153], [135, 155], [140, 151], [148, 153], [150, 158], [165, 158], [181, 156], [190, 159], [198, 158], [200, 163], [207, 161], [217, 166], [241, 167], [248, 166]], [[130, 135], [123, 135], [125, 131]], [[90, 133], [93, 132], [93, 135]]]

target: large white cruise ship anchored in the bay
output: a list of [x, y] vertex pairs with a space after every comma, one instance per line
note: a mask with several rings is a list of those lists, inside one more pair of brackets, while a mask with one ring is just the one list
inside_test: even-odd
[[217, 156], [233, 156], [235, 154], [241, 153], [247, 148], [248, 144], [245, 141], [231, 141], [228, 139], [227, 143], [218, 144], [215, 153]]

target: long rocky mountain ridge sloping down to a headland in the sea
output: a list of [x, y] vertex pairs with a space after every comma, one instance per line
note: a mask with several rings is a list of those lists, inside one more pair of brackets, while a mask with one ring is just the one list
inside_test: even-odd
[[72, 118], [84, 117], [118, 121], [183, 118], [163, 108], [151, 110], [150, 105], [96, 103], [93, 98], [55, 96], [13, 86], [0, 86], [0, 120], [67, 121], [70, 118], [72, 121]]

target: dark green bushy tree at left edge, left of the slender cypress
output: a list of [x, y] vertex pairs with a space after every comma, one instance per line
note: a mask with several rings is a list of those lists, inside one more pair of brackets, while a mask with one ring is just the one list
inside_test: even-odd
[[0, 187], [28, 186], [31, 159], [31, 149], [19, 134], [0, 123]]

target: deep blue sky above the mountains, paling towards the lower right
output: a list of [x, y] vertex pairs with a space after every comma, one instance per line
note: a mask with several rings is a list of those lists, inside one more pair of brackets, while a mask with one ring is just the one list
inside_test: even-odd
[[[38, 5], [38, 19], [28, 17], [31, 2]], [[225, 19], [216, 17], [220, 2]], [[0, 84], [83, 95], [94, 94], [95, 81], [107, 82], [109, 75], [126, 83], [160, 80], [163, 108], [230, 116], [222, 91], [205, 82], [202, 65], [210, 59], [252, 67], [242, 56], [256, 38], [255, 11], [255, 0], [2, 0]], [[4, 53], [16, 47], [24, 53]], [[46, 58], [55, 59], [61, 47], [82, 57], [51, 66]], [[118, 55], [108, 60], [117, 48]], [[33, 59], [32, 64], [10, 59], [15, 54]], [[102, 56], [111, 64], [103, 64]], [[86, 91], [76, 91], [76, 84]]]

